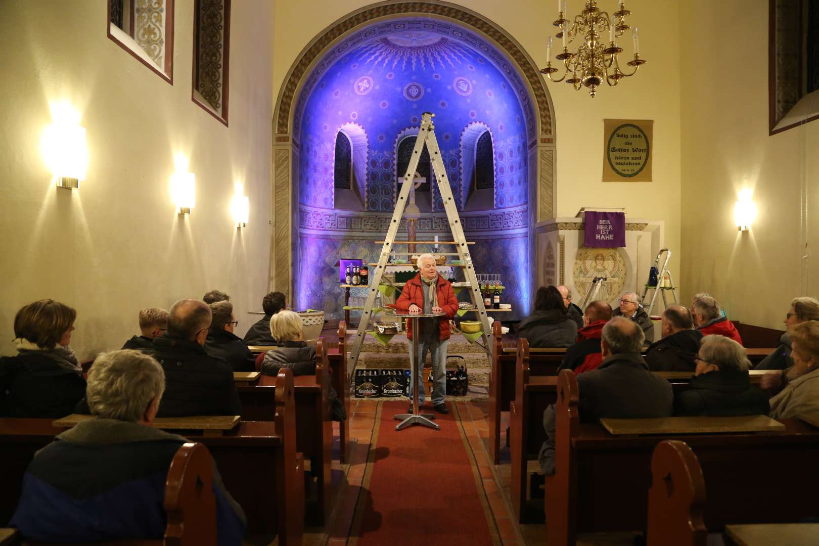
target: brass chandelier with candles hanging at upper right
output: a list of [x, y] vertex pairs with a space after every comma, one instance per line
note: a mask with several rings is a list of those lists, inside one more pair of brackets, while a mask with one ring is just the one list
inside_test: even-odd
[[[545, 74], [550, 81], [558, 83], [565, 80], [566, 83], [572, 84], [575, 91], [580, 91], [585, 86], [589, 88], [589, 94], [593, 98], [597, 93], [597, 88], [603, 84], [604, 80], [609, 83], [610, 87], [614, 87], [621, 79], [636, 74], [640, 65], [645, 64], [645, 60], [640, 59], [637, 28], [631, 29], [626, 24], [626, 17], [631, 15], [631, 11], [626, 9], [624, 2], [620, 2], [618, 11], [609, 16], [608, 12], [600, 11], [595, 0], [586, 0], [586, 7], [583, 8], [580, 15], [574, 17], [573, 21], [563, 16], [566, 13], [566, 0], [558, 0], [558, 9], [558, 19], [554, 21], [554, 26], [560, 29], [556, 37], [563, 38], [563, 52], [554, 58], [563, 61], [566, 71], [563, 72], [560, 79], [552, 78], [552, 74], [558, 69], [552, 66], [552, 37], [550, 36], [546, 41], [546, 58], [549, 61], [541, 70], [541, 74]], [[570, 24], [571, 28], [569, 28]], [[618, 56], [622, 53], [622, 47], [619, 47], [616, 41], [628, 29], [631, 29], [631, 41], [634, 43], [634, 59], [627, 63], [634, 67], [631, 74], [620, 70]], [[603, 43], [601, 33], [606, 30], [609, 31], [609, 42]], [[583, 43], [574, 52], [569, 52], [568, 44], [580, 35], [582, 35]], [[571, 77], [567, 78], [570, 73]]]

